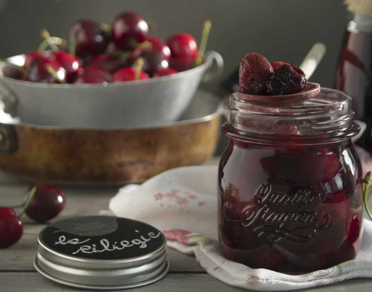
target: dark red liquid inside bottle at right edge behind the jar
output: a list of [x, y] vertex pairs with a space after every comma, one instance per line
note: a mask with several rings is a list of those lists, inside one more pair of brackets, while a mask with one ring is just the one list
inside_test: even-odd
[[347, 31], [336, 72], [335, 88], [353, 99], [355, 118], [367, 124], [357, 145], [372, 153], [372, 32]]

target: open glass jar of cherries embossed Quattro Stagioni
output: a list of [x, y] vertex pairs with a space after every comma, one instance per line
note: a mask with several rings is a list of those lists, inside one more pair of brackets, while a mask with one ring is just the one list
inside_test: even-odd
[[291, 108], [240, 102], [222, 125], [219, 242], [251, 268], [303, 273], [354, 259], [362, 230], [363, 175], [351, 137], [349, 95], [322, 88]]

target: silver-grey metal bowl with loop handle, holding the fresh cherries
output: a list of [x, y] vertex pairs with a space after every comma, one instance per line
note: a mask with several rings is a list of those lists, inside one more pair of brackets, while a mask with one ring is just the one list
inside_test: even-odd
[[[9, 58], [11, 62], [19, 59], [22, 62], [22, 56]], [[200, 83], [219, 76], [222, 69], [221, 55], [208, 51], [203, 64], [190, 70], [106, 86], [33, 83], [3, 76], [0, 100], [4, 112], [33, 125], [74, 128], [160, 125], [179, 119]]]

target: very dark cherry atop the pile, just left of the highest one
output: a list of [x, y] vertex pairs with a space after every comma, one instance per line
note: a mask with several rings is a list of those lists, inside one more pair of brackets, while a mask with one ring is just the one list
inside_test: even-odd
[[70, 26], [67, 39], [71, 42], [73, 38], [76, 40], [75, 54], [79, 57], [103, 54], [109, 44], [109, 37], [100, 23], [91, 19], [80, 19]]

